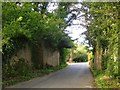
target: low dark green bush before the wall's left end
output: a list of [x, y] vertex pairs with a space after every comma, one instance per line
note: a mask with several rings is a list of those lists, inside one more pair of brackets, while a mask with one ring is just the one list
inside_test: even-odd
[[14, 78], [16, 76], [26, 76], [31, 71], [31, 66], [23, 58], [9, 61], [9, 64], [3, 65], [3, 80]]

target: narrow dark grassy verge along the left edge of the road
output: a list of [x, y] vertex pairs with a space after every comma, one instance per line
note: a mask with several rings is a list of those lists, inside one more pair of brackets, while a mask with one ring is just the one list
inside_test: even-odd
[[63, 69], [66, 66], [67, 66], [67, 64], [62, 64], [62, 65], [57, 66], [57, 67], [49, 67], [49, 68], [43, 68], [43, 69], [40, 69], [40, 70], [32, 70], [31, 72], [29, 72], [29, 74], [24, 75], [24, 76], [18, 75], [14, 78], [9, 77], [9, 78], [6, 78], [6, 79], [2, 80], [2, 87], [4, 88], [4, 87], [7, 87], [7, 86], [17, 84], [19, 82], [28, 81], [32, 78], [42, 77], [44, 75], [48, 75], [52, 72], [55, 72], [57, 70]]

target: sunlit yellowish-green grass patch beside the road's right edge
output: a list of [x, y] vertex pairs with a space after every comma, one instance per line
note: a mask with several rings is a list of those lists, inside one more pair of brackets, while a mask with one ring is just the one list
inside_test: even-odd
[[120, 83], [116, 78], [107, 75], [103, 71], [97, 71], [93, 68], [91, 69], [94, 78], [95, 78], [95, 86], [97, 88], [120, 88]]

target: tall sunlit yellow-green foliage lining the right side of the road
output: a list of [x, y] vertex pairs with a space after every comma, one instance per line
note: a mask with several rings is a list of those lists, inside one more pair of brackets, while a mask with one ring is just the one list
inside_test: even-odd
[[[87, 7], [86, 9], [84, 7]], [[83, 3], [86, 12], [86, 32], [89, 44], [95, 49], [102, 48], [102, 69], [109, 76], [119, 77], [118, 74], [118, 24], [119, 3], [94, 2]], [[93, 52], [95, 53], [95, 51]]]

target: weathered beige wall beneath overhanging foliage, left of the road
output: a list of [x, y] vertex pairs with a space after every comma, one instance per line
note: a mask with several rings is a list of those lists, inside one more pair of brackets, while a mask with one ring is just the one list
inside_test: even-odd
[[21, 58], [28, 64], [34, 65], [35, 68], [42, 68], [43, 66], [58, 66], [59, 65], [59, 51], [52, 50], [50, 47], [45, 47], [44, 44], [30, 47], [28, 43], [18, 52], [16, 52], [11, 60], [18, 61]]

